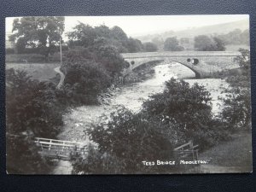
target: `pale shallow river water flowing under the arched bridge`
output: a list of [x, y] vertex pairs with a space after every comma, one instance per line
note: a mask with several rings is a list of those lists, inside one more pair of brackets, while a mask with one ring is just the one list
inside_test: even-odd
[[[90, 143], [86, 136], [86, 129], [90, 129], [91, 124], [99, 123], [102, 115], [109, 115], [117, 110], [119, 105], [132, 110], [134, 113], [139, 112], [142, 108], [143, 101], [148, 99], [148, 96], [155, 93], [160, 93], [165, 88], [165, 82], [169, 79], [184, 79], [189, 84], [202, 84], [211, 93], [212, 97], [212, 113], [217, 114], [221, 110], [221, 101], [218, 96], [224, 96], [223, 88], [228, 87], [228, 84], [222, 79], [192, 79], [195, 77], [189, 68], [183, 65], [171, 62], [161, 63], [154, 67], [154, 78], [144, 82], [126, 85], [120, 88], [109, 100], [108, 104], [100, 106], [82, 106], [73, 108], [70, 113], [63, 116], [64, 127], [59, 135], [59, 139], [67, 141], [76, 141], [82, 143]], [[65, 164], [56, 167], [55, 174], [70, 174], [71, 166]], [[66, 168], [65, 168], [66, 167]]]

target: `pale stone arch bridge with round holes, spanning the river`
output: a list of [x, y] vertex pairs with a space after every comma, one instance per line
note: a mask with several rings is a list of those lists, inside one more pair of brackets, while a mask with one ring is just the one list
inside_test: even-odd
[[122, 54], [125, 61], [130, 63], [130, 67], [123, 71], [124, 76], [131, 73], [135, 68], [150, 61], [172, 61], [178, 62], [185, 67], [189, 67], [195, 78], [201, 79], [211, 75], [211, 73], [221, 72], [225, 69], [239, 67], [234, 61], [238, 51], [165, 51], [165, 52], [140, 52]]

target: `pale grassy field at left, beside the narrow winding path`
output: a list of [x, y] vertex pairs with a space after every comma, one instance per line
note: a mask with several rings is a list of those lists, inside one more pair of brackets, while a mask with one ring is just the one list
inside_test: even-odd
[[56, 77], [55, 67], [61, 66], [60, 63], [6, 63], [5, 68], [15, 68], [15, 70], [23, 70], [32, 79], [38, 79], [39, 81], [54, 79]]

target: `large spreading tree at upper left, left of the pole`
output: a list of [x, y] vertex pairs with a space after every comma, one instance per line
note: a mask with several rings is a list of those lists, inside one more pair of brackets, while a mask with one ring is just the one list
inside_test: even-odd
[[26, 47], [38, 48], [40, 54], [48, 59], [48, 55], [55, 52], [55, 45], [59, 44], [64, 31], [64, 17], [22, 17], [13, 23], [13, 35], [10, 40], [17, 41], [18, 53]]

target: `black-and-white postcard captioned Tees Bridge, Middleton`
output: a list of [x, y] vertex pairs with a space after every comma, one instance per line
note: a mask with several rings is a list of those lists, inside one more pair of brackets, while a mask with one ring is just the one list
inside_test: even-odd
[[6, 172], [252, 172], [249, 28], [249, 15], [6, 18]]

